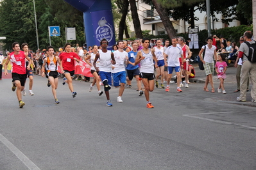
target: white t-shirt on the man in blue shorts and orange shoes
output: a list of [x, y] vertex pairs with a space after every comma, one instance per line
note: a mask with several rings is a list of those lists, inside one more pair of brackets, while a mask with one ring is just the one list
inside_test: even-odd
[[182, 49], [180, 47], [173, 47], [173, 45], [171, 45], [166, 49], [164, 53], [168, 56], [168, 66], [180, 66], [179, 58], [180, 55], [183, 54]]

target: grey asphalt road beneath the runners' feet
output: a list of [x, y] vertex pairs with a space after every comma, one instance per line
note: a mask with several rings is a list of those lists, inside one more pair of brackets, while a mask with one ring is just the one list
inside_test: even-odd
[[55, 105], [46, 78], [35, 75], [35, 96], [22, 97], [19, 109], [11, 79], [0, 81], [1, 170], [256, 169], [256, 109], [226, 102], [237, 95], [232, 82], [226, 95], [205, 92], [200, 83], [182, 93], [175, 84], [170, 92], [155, 88], [154, 109], [135, 84], [123, 103], [112, 88], [114, 106], [107, 107], [105, 94], [96, 87], [89, 93], [88, 82], [74, 81], [76, 98], [61, 82]]

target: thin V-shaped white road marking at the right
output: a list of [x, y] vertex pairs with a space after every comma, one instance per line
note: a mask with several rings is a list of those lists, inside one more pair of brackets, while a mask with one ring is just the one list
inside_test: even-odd
[[195, 114], [183, 114], [183, 116], [187, 116], [187, 117], [190, 117], [190, 118], [196, 118], [196, 119], [200, 119], [200, 120], [214, 121], [214, 122], [223, 123], [223, 124], [226, 124], [226, 125], [236, 125], [236, 126], [239, 126], [239, 127], [250, 128], [250, 129], [256, 130], [256, 127], [241, 125], [239, 123], [232, 123], [230, 121], [222, 121], [222, 120], [213, 120], [213, 119], [209, 119], [209, 118], [202, 118], [202, 117], [198, 116], [198, 115], [203, 115], [203, 114], [220, 114], [220, 113], [230, 113], [230, 112], [205, 112], [205, 113], [195, 113]]

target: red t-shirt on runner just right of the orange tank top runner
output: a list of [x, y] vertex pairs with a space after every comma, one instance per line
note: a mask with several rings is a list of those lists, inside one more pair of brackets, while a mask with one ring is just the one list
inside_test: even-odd
[[74, 58], [80, 59], [78, 54], [75, 52], [62, 52], [59, 56], [60, 60], [62, 60], [62, 66], [64, 70], [73, 71], [74, 70]]

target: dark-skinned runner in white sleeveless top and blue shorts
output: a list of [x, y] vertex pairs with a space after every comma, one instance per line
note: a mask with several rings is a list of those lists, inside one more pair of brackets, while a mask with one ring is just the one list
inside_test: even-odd
[[[111, 64], [115, 65], [115, 58], [114, 58], [113, 52], [107, 49], [108, 41], [105, 38], [101, 40], [100, 44], [101, 44], [101, 50], [99, 50], [99, 53], [96, 54], [93, 66], [94, 68], [96, 68], [96, 72], [99, 72], [101, 80], [104, 84], [104, 91], [107, 97], [107, 106], [113, 106], [110, 101], [109, 90], [111, 89], [111, 85], [112, 85]], [[96, 66], [98, 59], [99, 59], [99, 67]]]

